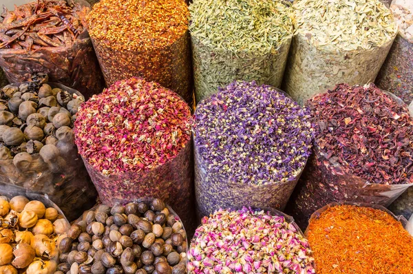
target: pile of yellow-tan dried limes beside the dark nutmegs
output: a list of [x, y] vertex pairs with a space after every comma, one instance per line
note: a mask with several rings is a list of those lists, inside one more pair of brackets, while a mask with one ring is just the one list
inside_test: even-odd
[[0, 189], [0, 273], [54, 273], [56, 239], [70, 227], [62, 211], [45, 196], [14, 196], [4, 185]]

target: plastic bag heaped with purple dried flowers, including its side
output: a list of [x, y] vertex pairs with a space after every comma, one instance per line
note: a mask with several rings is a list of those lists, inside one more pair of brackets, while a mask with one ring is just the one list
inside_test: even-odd
[[195, 191], [202, 216], [220, 208], [284, 209], [310, 154], [310, 116], [268, 85], [234, 81], [195, 111]]

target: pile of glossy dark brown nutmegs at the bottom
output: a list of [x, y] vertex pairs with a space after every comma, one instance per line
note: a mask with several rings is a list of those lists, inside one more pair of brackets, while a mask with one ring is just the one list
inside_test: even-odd
[[187, 233], [160, 199], [99, 205], [58, 239], [54, 274], [185, 274]]

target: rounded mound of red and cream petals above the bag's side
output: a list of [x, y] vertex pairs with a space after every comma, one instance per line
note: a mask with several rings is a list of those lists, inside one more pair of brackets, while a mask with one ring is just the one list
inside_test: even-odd
[[81, 156], [105, 175], [154, 169], [191, 139], [191, 109], [171, 90], [129, 78], [82, 105], [74, 132]]

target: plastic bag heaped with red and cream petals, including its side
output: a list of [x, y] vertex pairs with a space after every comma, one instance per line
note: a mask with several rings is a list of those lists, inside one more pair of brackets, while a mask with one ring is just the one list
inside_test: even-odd
[[100, 200], [160, 197], [192, 209], [191, 109], [142, 78], [118, 81], [81, 106], [76, 145]]

